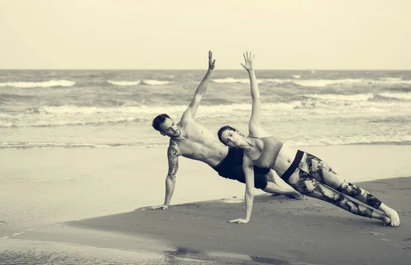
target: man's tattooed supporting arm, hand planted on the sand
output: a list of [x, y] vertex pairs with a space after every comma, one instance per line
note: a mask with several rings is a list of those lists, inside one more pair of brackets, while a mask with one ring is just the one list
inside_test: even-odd
[[174, 187], [175, 187], [175, 176], [178, 170], [178, 156], [177, 156], [177, 145], [173, 142], [170, 143], [169, 150], [167, 150], [167, 157], [169, 158], [169, 173], [166, 177], [166, 197], [164, 199], [164, 204], [159, 206], [153, 206], [150, 209], [163, 209], [166, 210], [170, 206], [171, 197], [173, 197]]

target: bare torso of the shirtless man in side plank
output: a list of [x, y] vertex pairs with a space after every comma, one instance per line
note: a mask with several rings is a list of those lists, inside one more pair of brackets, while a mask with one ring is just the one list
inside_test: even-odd
[[182, 133], [179, 137], [170, 139], [170, 145], [177, 145], [177, 156], [202, 161], [210, 167], [215, 167], [227, 156], [227, 146], [192, 118], [184, 119], [177, 125]]

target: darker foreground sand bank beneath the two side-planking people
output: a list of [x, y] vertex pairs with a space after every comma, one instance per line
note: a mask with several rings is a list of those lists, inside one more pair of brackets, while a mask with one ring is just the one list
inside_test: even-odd
[[411, 177], [358, 185], [395, 207], [401, 226], [384, 227], [312, 198], [259, 195], [247, 224], [227, 223], [244, 214], [240, 198], [231, 198], [169, 210], [138, 208], [51, 225], [8, 241], [37, 242], [42, 248], [58, 242], [51, 245], [60, 246], [56, 253], [75, 253], [76, 246], [95, 262], [99, 255], [130, 262], [134, 253], [138, 263], [130, 264], [409, 264]]

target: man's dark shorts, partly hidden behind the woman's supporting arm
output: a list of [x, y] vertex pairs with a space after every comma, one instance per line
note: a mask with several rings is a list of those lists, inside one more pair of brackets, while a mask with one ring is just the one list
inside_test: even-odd
[[[227, 156], [213, 169], [223, 178], [245, 183], [245, 174], [242, 170], [243, 154], [244, 150], [241, 148], [229, 148]], [[254, 186], [257, 189], [265, 189], [267, 181], [264, 175], [269, 172], [270, 169], [254, 166]]]

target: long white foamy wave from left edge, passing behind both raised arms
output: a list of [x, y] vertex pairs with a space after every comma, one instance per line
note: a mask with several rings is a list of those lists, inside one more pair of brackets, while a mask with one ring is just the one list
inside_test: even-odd
[[[287, 103], [264, 104], [263, 110], [290, 111], [301, 103], [297, 101]], [[236, 117], [251, 111], [251, 104], [219, 104], [201, 106], [197, 113], [201, 117], [221, 117], [222, 115]], [[147, 122], [161, 113], [168, 113], [171, 117], [180, 117], [187, 109], [186, 105], [174, 106], [125, 106], [125, 107], [77, 107], [77, 106], [43, 106], [26, 109], [18, 115], [3, 115], [0, 117], [0, 127], [23, 126], [72, 126], [108, 124], [123, 122]]]

